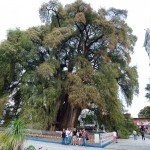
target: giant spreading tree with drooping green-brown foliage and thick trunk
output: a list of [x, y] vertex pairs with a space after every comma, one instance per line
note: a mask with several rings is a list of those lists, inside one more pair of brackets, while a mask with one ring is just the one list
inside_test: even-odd
[[119, 123], [121, 89], [128, 105], [138, 94], [137, 71], [130, 66], [136, 42], [126, 10], [94, 11], [77, 0], [39, 10], [45, 25], [10, 31], [0, 46], [0, 90], [13, 92], [13, 111], [38, 127], [73, 127], [84, 108], [97, 106], [101, 118]]

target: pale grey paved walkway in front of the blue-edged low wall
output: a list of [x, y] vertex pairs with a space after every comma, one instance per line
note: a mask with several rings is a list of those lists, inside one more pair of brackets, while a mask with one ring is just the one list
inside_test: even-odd
[[[141, 136], [137, 140], [119, 139], [118, 143], [111, 143], [105, 148], [90, 148], [82, 146], [64, 146], [60, 144], [46, 143], [50, 150], [150, 150], [150, 139], [142, 141]], [[49, 148], [47, 148], [49, 149]]]

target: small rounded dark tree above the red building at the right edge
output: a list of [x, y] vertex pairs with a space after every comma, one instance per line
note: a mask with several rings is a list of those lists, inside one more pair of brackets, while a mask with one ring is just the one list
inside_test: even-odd
[[139, 118], [150, 118], [150, 106], [146, 106], [138, 113]]

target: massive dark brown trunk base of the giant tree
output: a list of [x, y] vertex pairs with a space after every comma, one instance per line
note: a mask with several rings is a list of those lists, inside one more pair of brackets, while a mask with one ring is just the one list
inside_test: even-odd
[[81, 108], [71, 105], [68, 102], [68, 97], [65, 96], [58, 111], [56, 128], [62, 130], [63, 128], [76, 127], [80, 113]]

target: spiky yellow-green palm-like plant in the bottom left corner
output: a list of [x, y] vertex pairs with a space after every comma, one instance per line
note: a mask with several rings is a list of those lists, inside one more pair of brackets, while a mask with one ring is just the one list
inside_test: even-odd
[[24, 123], [15, 119], [10, 126], [0, 135], [3, 150], [20, 150], [20, 145], [25, 137]]

